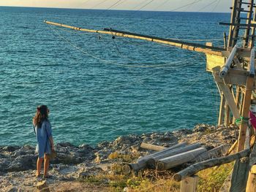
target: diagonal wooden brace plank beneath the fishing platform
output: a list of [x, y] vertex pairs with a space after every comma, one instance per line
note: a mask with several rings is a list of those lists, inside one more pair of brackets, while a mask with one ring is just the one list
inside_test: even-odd
[[236, 107], [236, 102], [235, 99], [233, 98], [233, 94], [231, 93], [230, 88], [228, 88], [227, 85], [225, 85], [223, 82], [217, 82], [217, 84], [219, 85], [219, 88], [222, 90], [233, 116], [236, 119], [240, 118], [240, 114], [238, 108]]

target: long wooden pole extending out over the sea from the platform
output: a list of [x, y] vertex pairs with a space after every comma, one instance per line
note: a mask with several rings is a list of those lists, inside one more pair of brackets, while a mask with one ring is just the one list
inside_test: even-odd
[[157, 42], [157, 43], [161, 43], [161, 44], [172, 45], [172, 46], [184, 49], [184, 50], [192, 50], [192, 51], [196, 51], [196, 52], [200, 52], [200, 53], [222, 55], [222, 51], [225, 50], [222, 47], [211, 47], [211, 46], [207, 46], [207, 45], [200, 45], [197, 43], [183, 42], [183, 41], [179, 41], [177, 39], [153, 37], [153, 36], [148, 36], [148, 35], [143, 35], [143, 34], [135, 34], [135, 33], [127, 32], [127, 31], [118, 31], [118, 30], [114, 30], [114, 29], [110, 29], [110, 28], [105, 28], [104, 30], [93, 30], [93, 29], [88, 29], [88, 28], [67, 26], [67, 25], [64, 25], [61, 23], [50, 22], [48, 20], [45, 20], [44, 22], [49, 25], [52, 25], [52, 26], [70, 28], [70, 29], [73, 29], [76, 31], [85, 31], [85, 32], [89, 32], [89, 33], [98, 33], [98, 34], [109, 34], [109, 35], [116, 36], [116, 37], [127, 37], [127, 38], [132, 38], [132, 39], [142, 39], [142, 40], [146, 40], [149, 42]]

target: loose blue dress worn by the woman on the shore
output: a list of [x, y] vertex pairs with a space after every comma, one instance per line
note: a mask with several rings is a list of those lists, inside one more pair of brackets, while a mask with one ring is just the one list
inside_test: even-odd
[[50, 154], [50, 140], [52, 129], [49, 120], [44, 120], [41, 127], [35, 127], [34, 132], [37, 136], [37, 148], [39, 158], [43, 158], [44, 154]]

